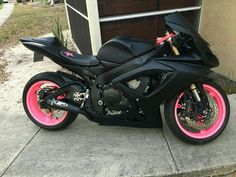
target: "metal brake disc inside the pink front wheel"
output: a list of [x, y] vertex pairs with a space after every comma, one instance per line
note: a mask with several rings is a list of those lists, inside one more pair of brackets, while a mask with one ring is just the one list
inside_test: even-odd
[[212, 98], [207, 93], [206, 93], [206, 95], [208, 98], [209, 106], [211, 108], [211, 112], [209, 113], [208, 117], [205, 118], [205, 121], [203, 121], [201, 123], [201, 125], [198, 123], [199, 121], [197, 121], [194, 118], [182, 117], [181, 113], [178, 114], [181, 122], [184, 123], [184, 125], [186, 125], [187, 127], [201, 131], [201, 130], [206, 130], [206, 129], [212, 127], [212, 125], [215, 123], [215, 121], [218, 117], [218, 106], [217, 106], [214, 98]]

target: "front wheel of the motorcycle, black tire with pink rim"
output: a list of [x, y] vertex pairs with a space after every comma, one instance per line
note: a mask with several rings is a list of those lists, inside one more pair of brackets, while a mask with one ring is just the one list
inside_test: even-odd
[[[222, 88], [215, 82], [209, 81], [203, 84], [203, 89], [208, 97], [209, 103], [211, 102], [213, 105], [211, 106], [211, 111], [214, 111], [214, 114], [210, 114], [210, 121], [212, 123], [207, 128], [201, 129], [200, 126], [204, 126], [202, 122], [194, 124], [193, 127], [195, 129], [189, 125], [186, 126], [186, 122], [183, 123], [185, 121], [181, 117], [183, 107], [180, 104], [183, 103], [184, 92], [167, 101], [165, 104], [165, 119], [169, 129], [176, 137], [192, 144], [205, 144], [214, 140], [223, 132], [229, 121], [229, 101]], [[189, 120], [189, 118], [186, 119]], [[195, 119], [197, 120], [198, 118]], [[196, 128], [197, 125], [199, 125], [199, 129]]]

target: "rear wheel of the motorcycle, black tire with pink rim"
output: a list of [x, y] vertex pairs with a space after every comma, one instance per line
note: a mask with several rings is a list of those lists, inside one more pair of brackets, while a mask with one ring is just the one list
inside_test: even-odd
[[[23, 106], [27, 116], [37, 126], [47, 130], [59, 130], [69, 126], [75, 121], [78, 114], [67, 111], [61, 111], [60, 113], [60, 110], [54, 110], [48, 113], [40, 108], [37, 92], [44, 84], [54, 88], [60, 88], [64, 85], [64, 81], [54, 72], [40, 73], [32, 77], [25, 85], [22, 96]], [[55, 111], [61, 114], [60, 118], [53, 115]]]

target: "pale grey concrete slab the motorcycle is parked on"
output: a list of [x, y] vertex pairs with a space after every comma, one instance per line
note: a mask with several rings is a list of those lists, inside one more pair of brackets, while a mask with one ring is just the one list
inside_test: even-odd
[[0, 114], [1, 176], [207, 176], [236, 169], [236, 95], [225, 132], [207, 145], [176, 139], [166, 128], [98, 126], [79, 116], [63, 131], [34, 126], [24, 113]]

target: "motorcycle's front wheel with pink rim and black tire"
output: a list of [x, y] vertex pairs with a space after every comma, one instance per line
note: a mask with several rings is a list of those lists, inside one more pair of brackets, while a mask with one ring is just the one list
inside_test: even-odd
[[186, 108], [184, 93], [169, 102], [172, 114], [165, 112], [166, 117], [168, 116], [167, 124], [172, 132], [179, 138], [195, 144], [206, 143], [216, 138], [222, 133], [229, 119], [229, 102], [224, 91], [214, 82], [203, 84], [203, 89], [209, 103], [207, 116], [200, 113], [193, 114], [194, 117], [186, 116], [187, 109], [190, 112], [196, 112], [197, 109], [194, 106]]

